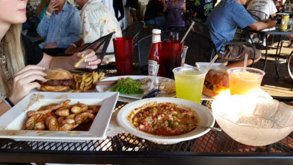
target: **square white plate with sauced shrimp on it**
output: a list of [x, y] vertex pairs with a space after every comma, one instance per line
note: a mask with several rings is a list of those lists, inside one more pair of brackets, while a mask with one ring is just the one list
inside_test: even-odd
[[[17, 141], [101, 140], [106, 136], [118, 96], [117, 92], [31, 92], [0, 117], [0, 138]], [[73, 108], [74, 105], [77, 106]]]

